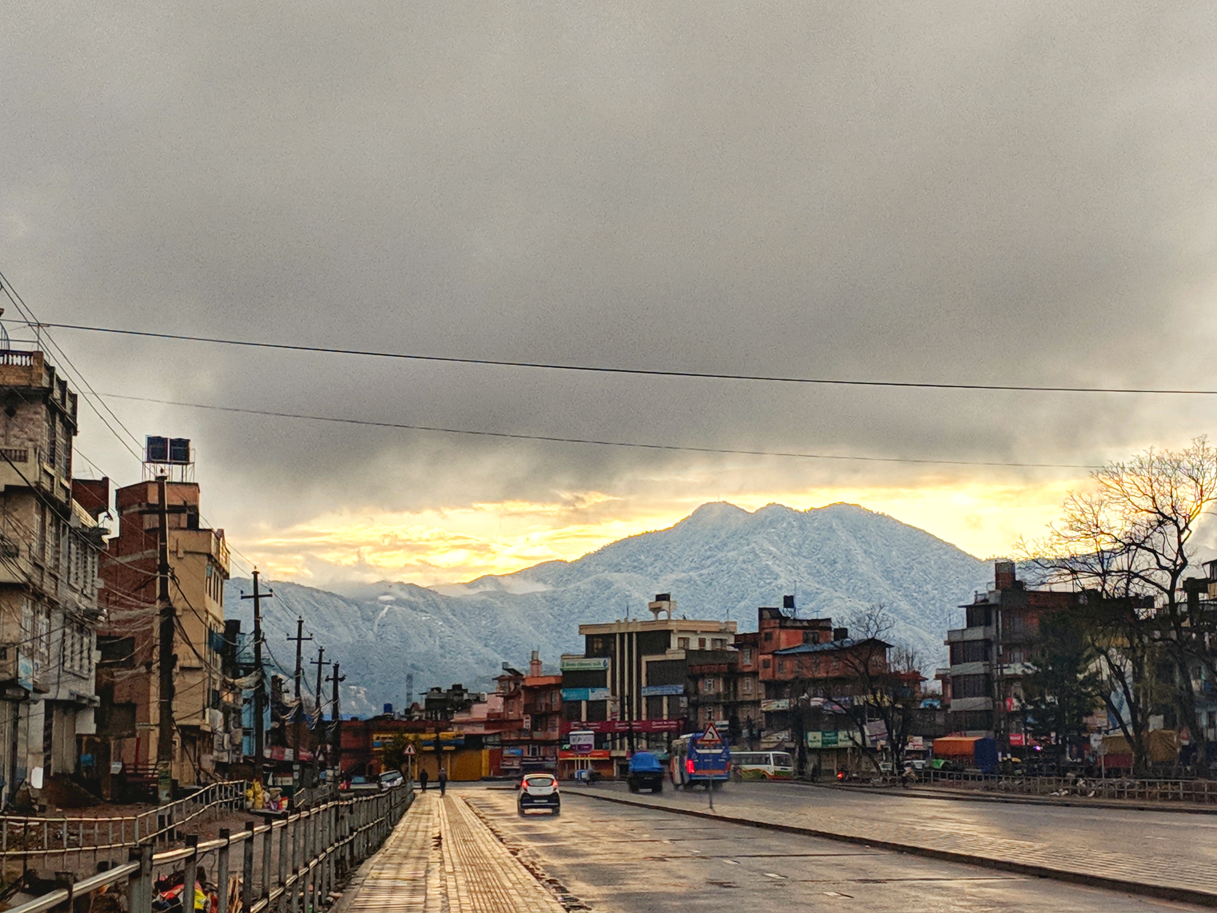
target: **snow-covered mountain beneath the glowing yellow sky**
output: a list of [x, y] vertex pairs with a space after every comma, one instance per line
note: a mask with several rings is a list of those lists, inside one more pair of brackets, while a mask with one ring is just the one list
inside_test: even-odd
[[[932, 666], [947, 628], [959, 623], [955, 606], [991, 579], [988, 565], [950, 543], [854, 504], [748, 512], [713, 503], [576, 561], [464, 584], [386, 582], [338, 595], [275, 583], [264, 624], [275, 659], [291, 672], [295, 646], [286, 638], [303, 616], [326, 659], [342, 663], [348, 688], [365, 689], [370, 706], [343, 710], [368, 712], [404, 704], [410, 672], [421, 691], [453, 682], [489, 688], [501, 662], [520, 667], [533, 649], [556, 667], [559, 654], [578, 651], [579, 623], [645, 615], [655, 593], [672, 593], [680, 615], [731, 620], [740, 631], [756, 628], [757, 606], [781, 605], [790, 593], [801, 615], [839, 623], [882, 603], [897, 620], [893, 639]], [[225, 601], [247, 631], [251, 606], [237, 598], [241, 589], [249, 590], [247, 581], [231, 581]], [[343, 694], [344, 702], [357, 696]]]

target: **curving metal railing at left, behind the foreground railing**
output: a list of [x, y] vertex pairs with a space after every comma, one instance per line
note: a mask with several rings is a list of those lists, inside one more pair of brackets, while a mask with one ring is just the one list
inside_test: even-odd
[[0, 816], [0, 861], [32, 856], [105, 853], [170, 839], [183, 824], [245, 803], [245, 782], [213, 783], [176, 802], [110, 818], [26, 818]]

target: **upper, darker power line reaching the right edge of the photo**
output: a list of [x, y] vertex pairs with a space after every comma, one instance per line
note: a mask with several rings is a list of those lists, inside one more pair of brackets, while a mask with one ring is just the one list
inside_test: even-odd
[[406, 362], [443, 362], [447, 364], [472, 364], [497, 368], [538, 368], [550, 371], [584, 371], [591, 374], [627, 374], [649, 377], [691, 377], [697, 380], [741, 380], [769, 383], [811, 383], [842, 387], [901, 387], [912, 390], [983, 390], [1026, 393], [1152, 393], [1172, 396], [1217, 396], [1217, 390], [1171, 390], [1157, 387], [1053, 387], [1022, 383], [940, 383], [931, 381], [886, 381], [886, 380], [848, 380], [842, 377], [795, 377], [769, 374], [725, 374], [717, 371], [675, 371], [657, 368], [610, 368], [604, 365], [576, 365], [548, 362], [507, 362], [493, 358], [458, 358], [454, 355], [420, 355], [405, 352], [377, 352], [375, 349], [330, 348], [325, 346], [303, 346], [288, 342], [257, 342], [253, 340], [229, 340], [218, 336], [189, 336], [174, 332], [153, 332], [151, 330], [120, 330], [112, 326], [84, 326], [82, 324], [39, 324], [57, 330], [82, 330], [85, 332], [105, 332], [118, 336], [144, 336], [157, 340], [175, 340], [180, 342], [207, 342], [218, 346], [242, 346], [247, 348], [271, 348], [287, 352], [315, 352], [331, 355], [361, 355], [366, 358], [392, 358]]

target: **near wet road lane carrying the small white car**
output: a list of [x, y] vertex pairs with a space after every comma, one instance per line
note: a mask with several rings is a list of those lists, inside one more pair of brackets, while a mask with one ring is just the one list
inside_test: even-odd
[[[768, 785], [768, 784], [759, 784]], [[800, 801], [797, 788], [775, 799]], [[1099, 889], [849, 846], [654, 808], [563, 796], [560, 818], [520, 818], [515, 794], [454, 790], [553, 890], [606, 913], [1112, 913], [1199, 909]], [[724, 794], [725, 795], [725, 794]], [[692, 799], [692, 796], [690, 796]], [[701, 796], [705, 800], [705, 795]], [[853, 797], [849, 797], [851, 800]], [[876, 805], [884, 797], [875, 796]], [[780, 799], [778, 799], [780, 801]], [[719, 801], [716, 797], [716, 805]]]

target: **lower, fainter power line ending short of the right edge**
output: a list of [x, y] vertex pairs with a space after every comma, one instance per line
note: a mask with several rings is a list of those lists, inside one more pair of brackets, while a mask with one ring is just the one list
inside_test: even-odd
[[632, 441], [600, 441], [587, 437], [557, 437], [553, 435], [523, 435], [509, 431], [475, 431], [470, 429], [447, 429], [436, 425], [406, 425], [397, 421], [371, 421], [370, 419], [340, 419], [332, 415], [307, 415], [303, 413], [284, 413], [269, 409], [246, 409], [236, 405], [214, 405], [211, 403], [186, 403], [176, 399], [153, 399], [125, 393], [102, 393], [114, 399], [133, 399], [141, 403], [159, 403], [162, 405], [183, 405], [190, 409], [211, 409], [221, 413], [240, 413], [243, 415], [265, 415], [275, 419], [301, 419], [303, 421], [329, 421], [340, 425], [361, 425], [377, 429], [398, 429], [404, 431], [431, 431], [442, 435], [470, 435], [475, 437], [499, 437], [514, 441], [544, 441], [561, 444], [593, 444], [596, 447], [633, 447], [643, 450], [677, 450], [680, 453], [720, 453], [741, 456], [789, 456], [808, 460], [860, 460], [864, 463], [915, 463], [948, 466], [1017, 466], [1025, 469], [1099, 469], [1079, 463], [1002, 463], [988, 460], [931, 460], [909, 456], [848, 456], [829, 453], [796, 453], [786, 450], [744, 450], [727, 447], [692, 447], [682, 444], [649, 444]]

